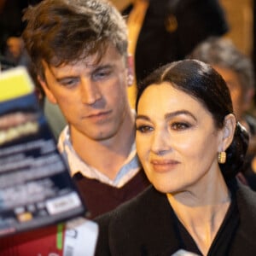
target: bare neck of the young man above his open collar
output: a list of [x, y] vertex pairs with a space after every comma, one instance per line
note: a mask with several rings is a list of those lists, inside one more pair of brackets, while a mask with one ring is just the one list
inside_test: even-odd
[[106, 140], [92, 140], [72, 130], [71, 127], [73, 148], [79, 157], [89, 166], [114, 179], [124, 165], [134, 143], [135, 125], [132, 114], [127, 114], [117, 134]]

